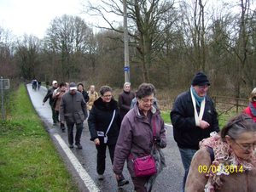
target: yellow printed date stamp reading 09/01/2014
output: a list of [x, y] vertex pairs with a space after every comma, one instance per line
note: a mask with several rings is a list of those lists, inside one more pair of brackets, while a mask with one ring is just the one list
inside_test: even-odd
[[198, 172], [219, 172], [219, 173], [230, 173], [230, 172], [243, 172], [242, 166], [199, 166]]

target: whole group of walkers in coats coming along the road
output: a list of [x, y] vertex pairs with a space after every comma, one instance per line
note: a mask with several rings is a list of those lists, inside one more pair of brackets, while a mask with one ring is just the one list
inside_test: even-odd
[[[96, 145], [96, 172], [104, 179], [108, 147], [118, 187], [129, 184], [123, 176], [125, 161], [134, 190], [151, 191], [156, 177], [166, 167], [166, 127], [155, 99], [156, 89], [141, 84], [135, 93], [125, 82], [118, 102], [113, 89], [93, 85], [84, 91], [83, 83], [52, 82], [44, 97], [52, 107], [53, 122], [60, 116], [61, 129], [67, 124], [68, 144], [82, 149], [83, 122], [88, 118], [90, 140]], [[174, 139], [184, 168], [182, 191], [254, 191], [256, 189], [256, 88], [251, 103], [221, 129], [212, 99], [210, 82], [200, 72], [187, 92], [175, 99], [170, 113]], [[89, 110], [89, 113], [88, 111]], [[89, 117], [88, 117], [89, 116]], [[76, 136], [73, 140], [73, 127]]]

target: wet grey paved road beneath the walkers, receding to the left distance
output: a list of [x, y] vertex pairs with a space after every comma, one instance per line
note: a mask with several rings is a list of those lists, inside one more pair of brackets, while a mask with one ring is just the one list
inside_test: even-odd
[[[73, 178], [76, 179], [79, 189], [83, 192], [115, 192], [133, 191], [133, 184], [129, 172], [127, 171], [126, 165], [124, 169], [125, 178], [130, 181], [130, 184], [125, 185], [123, 188], [117, 187], [117, 183], [112, 171], [112, 165], [107, 152], [107, 165], [104, 173], [104, 180], [97, 180], [96, 173], [96, 147], [95, 144], [90, 141], [90, 132], [88, 129], [87, 121], [84, 121], [84, 130], [81, 138], [81, 144], [83, 150], [77, 148], [69, 149], [67, 147], [67, 132], [62, 133], [59, 126], [52, 126], [51, 110], [48, 101], [42, 105], [43, 99], [47, 90], [44, 86], [39, 91], [32, 90], [32, 84], [26, 85], [27, 92], [30, 95], [32, 104], [35, 110], [38, 112], [38, 116], [44, 121], [45, 128], [55, 144], [56, 150], [59, 152], [63, 161], [67, 165], [67, 169], [72, 173]], [[167, 127], [167, 147], [164, 149], [166, 155], [167, 167], [163, 172], [160, 173], [156, 179], [152, 191], [156, 192], [178, 192], [182, 187], [183, 178], [183, 166], [182, 161], [177, 149], [177, 144], [173, 139], [172, 126], [166, 125]]]

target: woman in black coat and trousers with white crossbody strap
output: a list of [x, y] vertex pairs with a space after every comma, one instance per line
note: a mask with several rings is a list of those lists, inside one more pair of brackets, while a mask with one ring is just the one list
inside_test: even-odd
[[[105, 172], [106, 150], [108, 146], [109, 155], [113, 164], [114, 149], [119, 137], [121, 115], [117, 101], [112, 97], [112, 88], [102, 86], [101, 97], [97, 99], [90, 110], [88, 125], [90, 140], [96, 144], [98, 179], [103, 180]], [[118, 179], [118, 187], [129, 184], [122, 176]]]

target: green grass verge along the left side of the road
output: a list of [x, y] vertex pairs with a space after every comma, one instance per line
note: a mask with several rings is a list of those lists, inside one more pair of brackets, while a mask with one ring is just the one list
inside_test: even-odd
[[22, 84], [0, 120], [0, 191], [79, 191]]

